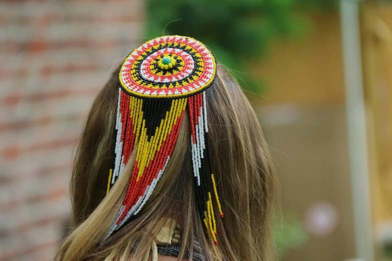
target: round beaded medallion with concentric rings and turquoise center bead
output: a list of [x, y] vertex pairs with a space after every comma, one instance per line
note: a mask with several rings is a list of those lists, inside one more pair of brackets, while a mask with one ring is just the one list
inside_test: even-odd
[[119, 80], [131, 95], [176, 98], [209, 87], [215, 75], [215, 56], [207, 46], [173, 35], [149, 40], [133, 50], [121, 66]]

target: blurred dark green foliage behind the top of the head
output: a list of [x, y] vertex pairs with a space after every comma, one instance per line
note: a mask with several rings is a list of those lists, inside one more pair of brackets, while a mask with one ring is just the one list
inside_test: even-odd
[[304, 31], [304, 22], [293, 13], [298, 1], [148, 0], [147, 36], [194, 37], [234, 71], [245, 89], [261, 92], [250, 65], [266, 53], [272, 39]]

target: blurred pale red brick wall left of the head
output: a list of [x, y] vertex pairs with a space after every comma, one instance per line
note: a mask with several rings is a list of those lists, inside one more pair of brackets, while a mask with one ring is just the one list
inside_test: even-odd
[[142, 0], [0, 1], [0, 261], [52, 259], [84, 118], [142, 20]]

